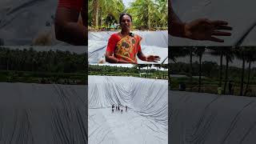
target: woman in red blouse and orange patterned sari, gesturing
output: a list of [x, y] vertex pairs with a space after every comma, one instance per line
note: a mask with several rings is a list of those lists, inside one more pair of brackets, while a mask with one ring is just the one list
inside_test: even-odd
[[121, 32], [112, 34], [106, 47], [106, 62], [110, 63], [134, 63], [137, 58], [146, 62], [158, 62], [157, 55], [145, 56], [142, 53], [140, 42], [142, 38], [130, 32], [132, 17], [130, 14], [121, 14], [119, 18]]

